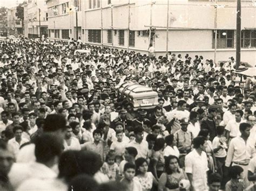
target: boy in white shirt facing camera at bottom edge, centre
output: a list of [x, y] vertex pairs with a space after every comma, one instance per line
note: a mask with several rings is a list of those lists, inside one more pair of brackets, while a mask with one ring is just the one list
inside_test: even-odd
[[131, 162], [127, 162], [124, 165], [124, 178], [120, 182], [127, 186], [127, 190], [143, 191], [142, 185], [139, 181], [133, 179], [135, 176], [135, 170], [136, 166]]

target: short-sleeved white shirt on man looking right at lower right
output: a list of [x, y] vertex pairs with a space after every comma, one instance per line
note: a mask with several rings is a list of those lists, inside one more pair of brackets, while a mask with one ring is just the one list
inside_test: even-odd
[[203, 151], [201, 155], [196, 149], [188, 153], [185, 157], [185, 172], [193, 175], [193, 186], [195, 190], [208, 190], [207, 188], [207, 155]]

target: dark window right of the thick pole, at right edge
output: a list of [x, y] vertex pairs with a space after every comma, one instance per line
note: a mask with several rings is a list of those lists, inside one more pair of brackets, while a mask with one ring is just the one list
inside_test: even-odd
[[241, 47], [256, 47], [256, 30], [241, 31]]

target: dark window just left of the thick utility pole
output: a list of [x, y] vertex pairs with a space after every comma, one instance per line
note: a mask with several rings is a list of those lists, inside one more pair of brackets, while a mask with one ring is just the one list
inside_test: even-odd
[[[215, 42], [215, 31], [213, 31], [213, 43]], [[233, 30], [218, 30], [217, 31], [217, 48], [233, 48], [234, 47], [234, 31]]]

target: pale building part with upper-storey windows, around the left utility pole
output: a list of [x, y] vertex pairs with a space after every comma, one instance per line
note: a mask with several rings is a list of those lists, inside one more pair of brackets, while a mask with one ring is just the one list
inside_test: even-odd
[[82, 0], [48, 0], [48, 36], [52, 40], [82, 36]]

